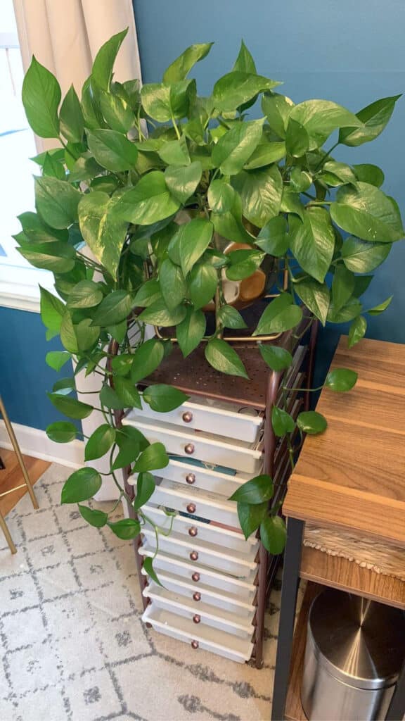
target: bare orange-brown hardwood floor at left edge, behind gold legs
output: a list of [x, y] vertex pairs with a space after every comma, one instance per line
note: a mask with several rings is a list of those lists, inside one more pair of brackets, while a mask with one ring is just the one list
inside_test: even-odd
[[[19, 499], [27, 493], [27, 487], [25, 486], [1, 497], [1, 493], [22, 485], [24, 478], [22, 477], [22, 472], [14, 451], [6, 451], [5, 448], [0, 448], [0, 457], [4, 466], [6, 466], [4, 469], [0, 469], [0, 510], [3, 516], [6, 517], [7, 513], [17, 505]], [[40, 459], [31, 458], [31, 456], [24, 456], [24, 461], [32, 485], [37, 482], [50, 466], [47, 461], [40, 461]]]

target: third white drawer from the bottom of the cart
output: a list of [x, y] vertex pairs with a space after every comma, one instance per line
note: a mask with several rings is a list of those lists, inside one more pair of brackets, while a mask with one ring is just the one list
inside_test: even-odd
[[[154, 562], [154, 568], [156, 570], [156, 562]], [[147, 575], [144, 569], [142, 569], [142, 573], [143, 575]], [[164, 588], [173, 591], [173, 593], [177, 593], [178, 596], [187, 598], [197, 613], [200, 604], [205, 603], [208, 606], [214, 606], [215, 609], [223, 609], [223, 611], [235, 614], [241, 619], [246, 619], [248, 622], [253, 621], [256, 606], [253, 606], [252, 603], [241, 601], [238, 596], [232, 593], [213, 590], [213, 588], [201, 582], [196, 585], [192, 580], [184, 580], [182, 576], [178, 576], [169, 571], [161, 571], [159, 569], [157, 570], [157, 575]]]

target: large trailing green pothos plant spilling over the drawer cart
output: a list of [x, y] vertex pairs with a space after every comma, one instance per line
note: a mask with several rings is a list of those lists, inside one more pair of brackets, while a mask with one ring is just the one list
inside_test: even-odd
[[[139, 474], [138, 520], [110, 522], [107, 513], [83, 505], [102, 485], [91, 466], [71, 474], [62, 503], [79, 503], [86, 521], [128, 539], [148, 520], [143, 505], [155, 487], [151, 472], [169, 459], [161, 443], [148, 443], [136, 428], [117, 428], [114, 412], [143, 402], [164, 414], [186, 399], [162, 384], [139, 389], [172, 350], [170, 340], [149, 337], [146, 328], [173, 328], [184, 358], [203, 342], [210, 366], [249, 382], [236, 346], [223, 337], [226, 328], [245, 327], [224, 283], [249, 278], [271, 260], [288, 271], [288, 287], [253, 329], [267, 366], [283, 371], [292, 358], [260, 337], [297, 327], [303, 305], [321, 324], [350, 322], [352, 346], [365, 334], [367, 314], [381, 313], [391, 301], [363, 309], [360, 297], [404, 229], [395, 200], [380, 189], [383, 172], [332, 156], [337, 146], [379, 136], [399, 96], [357, 114], [329, 100], [295, 105], [275, 92], [280, 82], [257, 74], [244, 43], [210, 97], [198, 96], [188, 76], [211, 43], [187, 48], [162, 82], [140, 88], [137, 80], [113, 79], [125, 34], [99, 50], [81, 99], [72, 86], [61, 102], [58, 81], [32, 58], [22, 91], [27, 118], [58, 147], [35, 158], [42, 170], [35, 178], [36, 212], [19, 216], [16, 239], [19, 252], [55, 278], [56, 294], [41, 289], [41, 315], [48, 339], [59, 335], [66, 350], [48, 353], [48, 365], [59, 371], [73, 358], [75, 376], [83, 369], [100, 376], [97, 408], [104, 423], [85, 438], [86, 461], [110, 454], [120, 497], [126, 493], [117, 472], [130, 466]], [[249, 108], [261, 117], [249, 120]], [[334, 131], [337, 141], [324, 149]], [[206, 337], [203, 309], [210, 303], [215, 327]], [[326, 386], [341, 392], [355, 381], [353, 371], [339, 369]], [[83, 419], [95, 407], [76, 399], [75, 390], [81, 390], [75, 377], [58, 380], [50, 401]], [[319, 433], [326, 420], [303, 412], [297, 425]], [[293, 461], [295, 420], [285, 407], [273, 408], [272, 426], [287, 436]], [[60, 443], [81, 436], [68, 421], [52, 423], [47, 433]], [[285, 528], [277, 509], [269, 510], [272, 492], [272, 479], [261, 475], [233, 500], [246, 538], [260, 527], [267, 549], [280, 552]], [[150, 559], [147, 564], [153, 573]]]

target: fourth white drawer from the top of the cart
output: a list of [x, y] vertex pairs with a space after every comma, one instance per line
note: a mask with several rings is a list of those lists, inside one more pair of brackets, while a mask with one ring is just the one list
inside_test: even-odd
[[[191, 516], [207, 518], [208, 521], [223, 523], [224, 526], [239, 529], [238, 508], [233, 500], [223, 500], [215, 493], [203, 491], [200, 488], [187, 488], [180, 483], [162, 478], [156, 485], [149, 504], [164, 506], [172, 510], [180, 510]], [[189, 519], [190, 520], [190, 519]]]

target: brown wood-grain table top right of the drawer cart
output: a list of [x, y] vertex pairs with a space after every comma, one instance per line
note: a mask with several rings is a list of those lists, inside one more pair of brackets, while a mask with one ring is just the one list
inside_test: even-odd
[[339, 340], [331, 368], [357, 371], [352, 391], [321, 392], [328, 421], [308, 435], [283, 512], [405, 545], [405, 345]]

